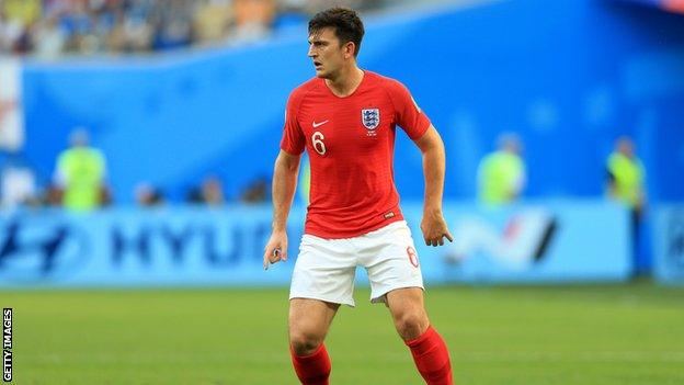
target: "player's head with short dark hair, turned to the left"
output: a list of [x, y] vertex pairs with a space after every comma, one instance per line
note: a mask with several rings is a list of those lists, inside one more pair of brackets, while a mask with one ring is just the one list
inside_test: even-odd
[[331, 8], [309, 21], [309, 53], [316, 76], [334, 78], [345, 66], [355, 65], [364, 26], [358, 13]]

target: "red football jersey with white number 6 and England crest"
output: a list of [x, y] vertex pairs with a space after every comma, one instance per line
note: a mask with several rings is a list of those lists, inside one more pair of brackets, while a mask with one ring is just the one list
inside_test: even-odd
[[292, 92], [281, 148], [309, 154], [306, 234], [352, 238], [403, 219], [392, 171], [397, 125], [418, 139], [430, 120], [403, 84], [374, 72], [345, 98], [320, 78]]

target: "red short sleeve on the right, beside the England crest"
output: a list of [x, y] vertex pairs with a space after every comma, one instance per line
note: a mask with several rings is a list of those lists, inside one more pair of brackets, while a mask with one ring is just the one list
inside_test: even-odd
[[430, 118], [418, 106], [406, 86], [396, 80], [390, 80], [389, 94], [396, 109], [397, 124], [412, 140], [423, 136], [430, 128]]

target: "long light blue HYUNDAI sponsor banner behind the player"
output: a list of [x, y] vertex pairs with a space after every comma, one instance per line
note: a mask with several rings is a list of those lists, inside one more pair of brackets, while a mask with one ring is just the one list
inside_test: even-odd
[[[445, 205], [455, 239], [438, 248], [422, 241], [421, 205], [403, 212], [415, 240], [406, 260], [428, 284], [613, 281], [631, 271], [627, 213], [603, 202]], [[289, 260], [269, 271], [266, 206], [23, 213], [2, 217], [0, 228], [0, 287], [286, 285], [304, 211], [290, 214]]]

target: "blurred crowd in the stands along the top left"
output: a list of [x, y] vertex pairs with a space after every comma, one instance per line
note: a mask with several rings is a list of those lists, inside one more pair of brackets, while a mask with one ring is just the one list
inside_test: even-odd
[[263, 39], [331, 4], [386, 0], [0, 0], [0, 55], [110, 55]]

